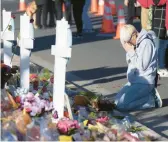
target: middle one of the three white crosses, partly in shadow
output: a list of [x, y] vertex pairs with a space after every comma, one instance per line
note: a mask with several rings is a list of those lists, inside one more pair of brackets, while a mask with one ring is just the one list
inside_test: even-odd
[[30, 17], [20, 16], [20, 85], [29, 90], [30, 54], [34, 47], [34, 28]]

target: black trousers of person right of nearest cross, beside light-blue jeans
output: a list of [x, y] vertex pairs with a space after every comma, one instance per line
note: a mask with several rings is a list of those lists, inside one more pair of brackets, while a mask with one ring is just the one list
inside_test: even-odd
[[77, 27], [77, 33], [82, 33], [83, 28], [82, 13], [83, 13], [83, 7], [85, 5], [85, 0], [73, 0], [72, 5], [73, 5], [73, 16]]

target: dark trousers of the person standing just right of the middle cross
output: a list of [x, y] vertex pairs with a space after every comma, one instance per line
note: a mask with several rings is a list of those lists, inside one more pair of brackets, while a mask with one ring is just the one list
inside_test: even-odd
[[[41, 17], [42, 17], [43, 24], [41, 24]], [[47, 25], [47, 5], [46, 4], [37, 6], [36, 24], [37, 26]]]

